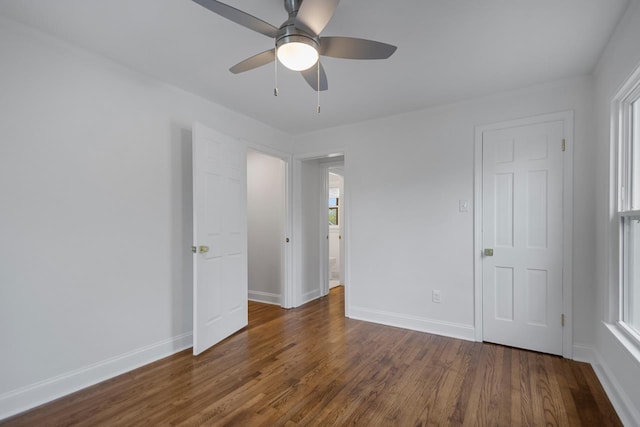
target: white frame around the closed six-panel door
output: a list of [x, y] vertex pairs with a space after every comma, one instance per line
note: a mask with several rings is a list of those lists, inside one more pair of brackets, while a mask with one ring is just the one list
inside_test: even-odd
[[563, 213], [562, 213], [562, 307], [564, 328], [562, 331], [562, 355], [573, 357], [573, 111], [544, 114], [523, 119], [476, 126], [474, 146], [474, 294], [475, 338], [483, 340], [482, 322], [482, 134], [487, 131], [533, 125], [545, 122], [564, 123], [565, 152], [563, 156]]

